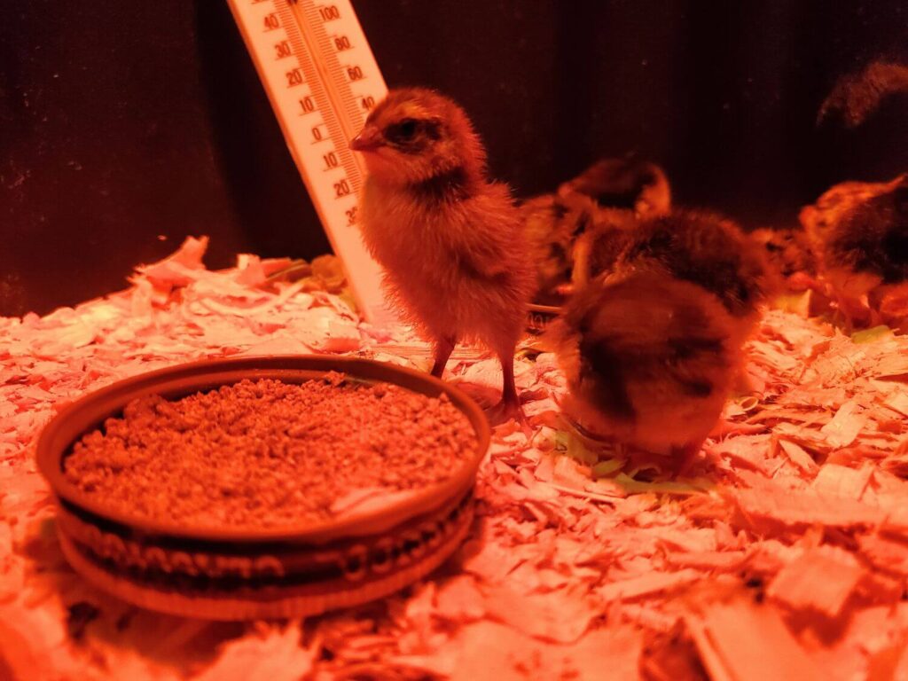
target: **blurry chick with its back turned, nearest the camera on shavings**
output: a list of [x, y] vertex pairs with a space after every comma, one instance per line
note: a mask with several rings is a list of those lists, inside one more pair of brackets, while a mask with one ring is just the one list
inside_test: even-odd
[[716, 295], [666, 271], [601, 276], [549, 331], [570, 389], [562, 408], [683, 473], [734, 383], [738, 324]]

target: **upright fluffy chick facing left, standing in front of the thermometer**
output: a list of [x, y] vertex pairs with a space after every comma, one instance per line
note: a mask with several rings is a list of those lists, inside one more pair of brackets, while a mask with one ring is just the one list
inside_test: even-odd
[[493, 422], [523, 419], [514, 350], [534, 272], [508, 187], [486, 177], [486, 153], [463, 110], [429, 90], [392, 90], [350, 147], [369, 175], [363, 240], [385, 269], [401, 314], [435, 344], [440, 377], [459, 341], [498, 354], [504, 374]]

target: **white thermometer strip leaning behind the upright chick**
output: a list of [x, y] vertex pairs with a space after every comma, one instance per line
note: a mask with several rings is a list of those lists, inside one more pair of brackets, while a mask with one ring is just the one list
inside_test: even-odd
[[388, 90], [350, 0], [229, 3], [360, 310], [391, 321], [356, 226], [365, 169], [349, 147]]

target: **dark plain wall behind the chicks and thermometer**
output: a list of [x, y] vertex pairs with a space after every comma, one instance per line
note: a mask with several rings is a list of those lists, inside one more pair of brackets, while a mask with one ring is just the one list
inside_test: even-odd
[[[459, 100], [521, 196], [633, 150], [677, 202], [784, 224], [908, 165], [904, 97], [814, 124], [839, 76], [908, 58], [903, 0], [353, 4], [388, 84]], [[210, 267], [329, 250], [224, 0], [0, 4], [0, 314], [123, 288], [187, 234]]]

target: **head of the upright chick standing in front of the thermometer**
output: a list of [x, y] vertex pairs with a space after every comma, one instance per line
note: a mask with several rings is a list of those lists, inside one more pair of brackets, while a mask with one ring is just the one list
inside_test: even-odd
[[467, 114], [448, 97], [420, 88], [391, 90], [370, 112], [350, 148], [370, 175], [409, 185], [483, 172], [485, 151]]

